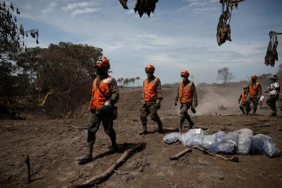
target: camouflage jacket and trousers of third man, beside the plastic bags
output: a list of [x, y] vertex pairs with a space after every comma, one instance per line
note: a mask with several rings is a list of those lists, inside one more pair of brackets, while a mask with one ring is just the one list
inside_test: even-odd
[[[186, 82], [183, 82], [182, 84], [182, 89], [184, 89], [184, 87], [187, 85], [187, 83], [189, 83], [189, 80], [187, 79]], [[180, 86], [181, 84], [179, 84]], [[198, 104], [198, 98], [197, 98], [197, 93], [196, 93], [196, 88], [194, 85], [194, 82], [192, 83], [192, 94], [193, 94], [193, 98], [194, 98], [194, 104]], [[177, 93], [176, 93], [176, 97], [174, 98], [175, 101], [178, 101], [179, 98], [179, 89], [177, 89]], [[185, 121], [185, 119], [188, 120], [189, 124], [193, 124], [190, 115], [187, 113], [188, 109], [190, 108], [190, 106], [192, 105], [192, 102], [186, 102], [186, 103], [180, 103], [180, 124], [182, 126], [183, 122]], [[183, 115], [184, 114], [184, 115]], [[183, 117], [182, 117], [183, 116]]]

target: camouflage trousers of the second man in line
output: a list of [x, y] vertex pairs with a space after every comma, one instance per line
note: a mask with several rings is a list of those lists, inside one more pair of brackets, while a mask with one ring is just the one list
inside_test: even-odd
[[142, 101], [142, 105], [140, 108], [140, 120], [142, 122], [142, 125], [147, 123], [147, 116], [149, 114], [153, 121], [155, 122], [160, 121], [160, 117], [157, 114], [156, 101], [152, 101], [152, 102]]

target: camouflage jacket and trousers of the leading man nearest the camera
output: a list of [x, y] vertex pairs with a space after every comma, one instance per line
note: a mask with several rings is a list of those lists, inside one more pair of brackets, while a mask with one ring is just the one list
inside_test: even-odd
[[[108, 75], [107, 75], [107, 77], [108, 77]], [[104, 78], [100, 78], [100, 76], [97, 77], [97, 82], [98, 82], [99, 85], [100, 85], [100, 83], [103, 79]], [[111, 91], [111, 98], [108, 100], [108, 102], [111, 103], [111, 105], [114, 105], [115, 103], [117, 103], [117, 101], [119, 99], [117, 81], [114, 78], [113, 78], [113, 80], [110, 84], [110, 91]], [[93, 97], [92, 97], [92, 99], [93, 99]], [[112, 138], [115, 138], [115, 130], [113, 129], [113, 114], [112, 114], [113, 109], [112, 108], [110, 108], [104, 114], [99, 114], [97, 112], [98, 110], [91, 109], [89, 111], [88, 127], [91, 130], [91, 134], [95, 134], [98, 131], [99, 125], [102, 121], [105, 133], [111, 137], [111, 140], [112, 140]], [[110, 126], [110, 131], [108, 132], [109, 126]]]

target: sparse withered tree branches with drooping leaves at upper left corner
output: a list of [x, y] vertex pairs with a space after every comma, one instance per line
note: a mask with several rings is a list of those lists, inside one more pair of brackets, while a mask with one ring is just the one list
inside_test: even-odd
[[19, 54], [24, 52], [24, 36], [36, 38], [38, 44], [38, 29], [31, 29], [24, 31], [21, 24], [19, 27], [16, 24], [17, 19], [10, 10], [16, 14], [20, 14], [18, 8], [14, 8], [13, 4], [7, 6], [5, 1], [0, 4], [0, 63], [16, 58]]

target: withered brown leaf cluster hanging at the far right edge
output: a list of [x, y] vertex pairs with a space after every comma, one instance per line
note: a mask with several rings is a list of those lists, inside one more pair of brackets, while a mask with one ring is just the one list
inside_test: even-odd
[[268, 43], [266, 55], [264, 57], [264, 64], [266, 66], [270, 65], [271, 67], [274, 67], [275, 60], [278, 61], [278, 53], [276, 51], [278, 45], [277, 34], [282, 34], [282, 33], [276, 33], [274, 31], [270, 31], [268, 34], [270, 41]]

